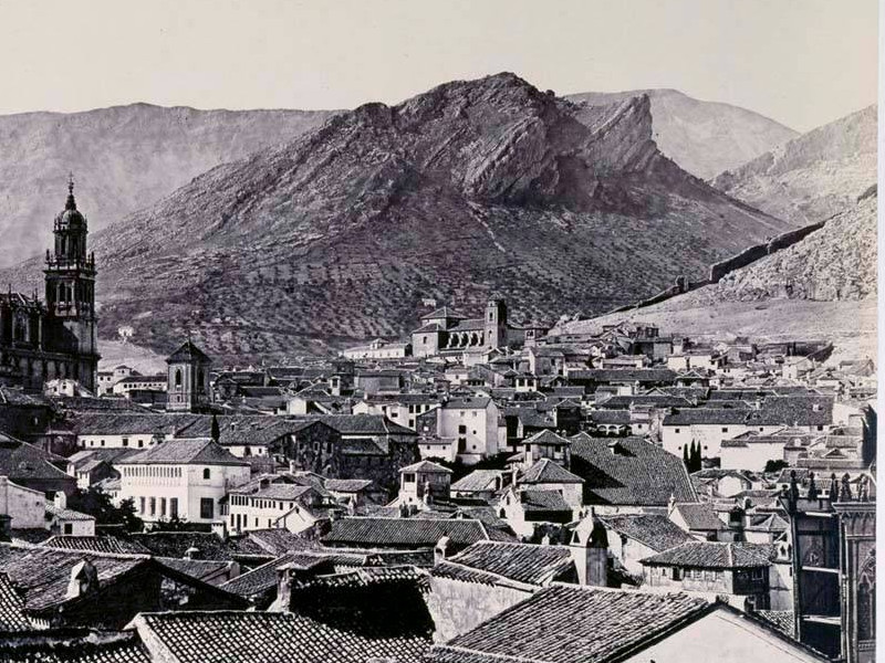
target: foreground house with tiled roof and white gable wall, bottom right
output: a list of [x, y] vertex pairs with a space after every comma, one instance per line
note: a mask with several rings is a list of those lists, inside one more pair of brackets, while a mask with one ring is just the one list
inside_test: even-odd
[[435, 644], [426, 660], [680, 663], [686, 653], [698, 661], [720, 663], [826, 660], [768, 622], [700, 597], [560, 583], [538, 590], [471, 631]]

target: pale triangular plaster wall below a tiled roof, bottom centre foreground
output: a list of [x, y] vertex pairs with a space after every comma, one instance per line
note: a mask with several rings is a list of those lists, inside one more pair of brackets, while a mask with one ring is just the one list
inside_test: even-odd
[[427, 609], [436, 625], [434, 641], [446, 642], [466, 633], [530, 596], [528, 589], [430, 576]]

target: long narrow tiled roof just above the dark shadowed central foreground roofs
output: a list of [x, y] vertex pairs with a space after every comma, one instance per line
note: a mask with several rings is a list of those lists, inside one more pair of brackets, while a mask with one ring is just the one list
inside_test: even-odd
[[325, 544], [434, 547], [444, 536], [452, 545], [469, 546], [489, 535], [479, 520], [350, 517], [332, 523]]

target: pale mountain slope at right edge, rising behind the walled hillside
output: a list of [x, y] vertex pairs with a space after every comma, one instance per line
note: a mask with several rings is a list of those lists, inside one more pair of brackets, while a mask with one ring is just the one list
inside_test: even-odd
[[803, 134], [712, 185], [780, 219], [821, 221], [876, 182], [875, 105]]

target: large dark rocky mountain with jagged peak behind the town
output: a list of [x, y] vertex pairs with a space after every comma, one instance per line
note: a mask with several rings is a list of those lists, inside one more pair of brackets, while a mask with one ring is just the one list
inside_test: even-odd
[[335, 115], [96, 233], [100, 335], [239, 361], [402, 336], [424, 298], [598, 313], [787, 228], [665, 158], [647, 96], [499, 74]]

